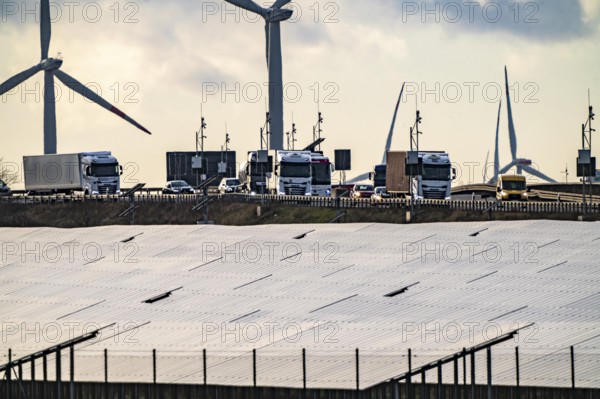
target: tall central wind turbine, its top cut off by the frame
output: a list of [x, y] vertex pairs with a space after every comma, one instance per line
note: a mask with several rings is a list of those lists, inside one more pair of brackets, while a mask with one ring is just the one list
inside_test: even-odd
[[291, 0], [277, 0], [269, 8], [263, 8], [252, 0], [225, 1], [258, 14], [265, 20], [267, 68], [269, 70], [269, 116], [271, 118], [270, 147], [272, 150], [283, 150], [283, 72], [279, 23], [292, 17], [292, 10], [281, 8]]

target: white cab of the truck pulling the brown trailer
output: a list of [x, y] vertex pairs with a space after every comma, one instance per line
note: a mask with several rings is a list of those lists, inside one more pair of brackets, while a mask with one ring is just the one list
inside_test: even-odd
[[413, 197], [449, 200], [452, 180], [456, 178], [450, 155], [442, 151], [419, 151], [419, 161], [423, 162], [423, 174], [413, 178]]

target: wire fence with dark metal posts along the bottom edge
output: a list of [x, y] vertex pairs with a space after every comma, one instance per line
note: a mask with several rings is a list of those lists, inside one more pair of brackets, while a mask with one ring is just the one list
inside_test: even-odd
[[[0, 359], [14, 362], [19, 355], [26, 354], [10, 352]], [[440, 359], [439, 353], [417, 351], [394, 354], [301, 350], [290, 354], [260, 350], [124, 352], [71, 348], [9, 367], [11, 371], [3, 373], [4, 378], [0, 381], [0, 397], [19, 384], [26, 386], [36, 381], [262, 386], [367, 393], [387, 392], [392, 383], [391, 386], [403, 384], [409, 395], [406, 397], [417, 395], [419, 390], [428, 390], [432, 384], [440, 390], [446, 389], [443, 388], [445, 385], [452, 389], [463, 387], [460, 389], [470, 392], [479, 389], [478, 386], [490, 390], [502, 386], [541, 386], [573, 392], [579, 388], [600, 389], [598, 348], [524, 350], [499, 347], [488, 352], [465, 351], [464, 356], [463, 352], [457, 352], [448, 363]], [[394, 377], [410, 371], [413, 372], [410, 378]]]

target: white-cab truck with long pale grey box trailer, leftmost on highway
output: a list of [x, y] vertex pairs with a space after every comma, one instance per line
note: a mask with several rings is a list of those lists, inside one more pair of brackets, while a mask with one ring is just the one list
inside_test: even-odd
[[30, 194], [119, 194], [123, 168], [110, 151], [23, 157]]

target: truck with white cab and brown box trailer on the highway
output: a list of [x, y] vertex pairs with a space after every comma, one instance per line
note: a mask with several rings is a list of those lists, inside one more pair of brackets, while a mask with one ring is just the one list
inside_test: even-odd
[[[389, 151], [386, 165], [386, 188], [392, 196], [412, 196], [414, 199], [449, 200], [456, 172], [450, 156], [443, 151], [419, 151], [421, 174], [406, 175], [407, 151]], [[411, 187], [412, 186], [412, 187]]]

